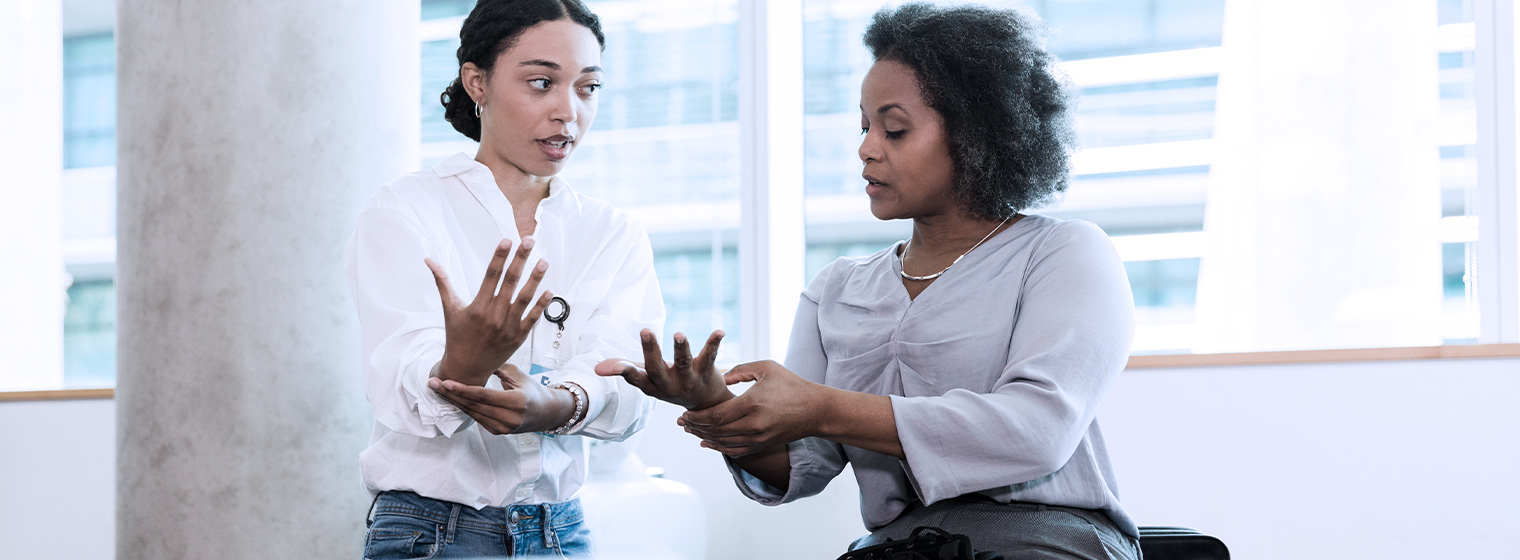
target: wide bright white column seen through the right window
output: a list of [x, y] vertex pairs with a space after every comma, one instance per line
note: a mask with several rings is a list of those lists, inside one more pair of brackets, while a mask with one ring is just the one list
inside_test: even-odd
[[1436, 14], [1230, 0], [1195, 350], [1441, 344]]

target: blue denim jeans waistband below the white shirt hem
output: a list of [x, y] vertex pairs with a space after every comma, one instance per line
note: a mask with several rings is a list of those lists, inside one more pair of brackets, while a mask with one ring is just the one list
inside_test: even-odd
[[386, 490], [375, 498], [369, 517], [380, 514], [412, 516], [439, 525], [468, 527], [503, 534], [549, 533], [582, 522], [581, 499], [558, 504], [521, 504], [508, 507], [468, 505], [432, 499], [413, 492]]

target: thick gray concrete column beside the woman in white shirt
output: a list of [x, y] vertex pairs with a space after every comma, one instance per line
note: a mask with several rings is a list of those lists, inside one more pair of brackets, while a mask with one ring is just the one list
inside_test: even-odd
[[416, 164], [416, 0], [120, 0], [117, 558], [357, 558], [342, 251]]

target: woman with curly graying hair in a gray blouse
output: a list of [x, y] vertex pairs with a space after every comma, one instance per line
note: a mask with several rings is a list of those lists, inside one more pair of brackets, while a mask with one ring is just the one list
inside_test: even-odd
[[[1067, 186], [1072, 88], [1034, 15], [912, 3], [876, 14], [860, 87], [871, 213], [914, 233], [839, 259], [803, 292], [786, 367], [719, 376], [714, 342], [676, 362], [603, 362], [689, 408], [740, 492], [774, 505], [848, 464], [871, 534], [965, 534], [1008, 558], [1137, 558], [1096, 415], [1134, 303], [1096, 225], [1026, 215]], [[742, 396], [728, 383], [754, 382]]]

